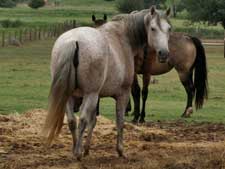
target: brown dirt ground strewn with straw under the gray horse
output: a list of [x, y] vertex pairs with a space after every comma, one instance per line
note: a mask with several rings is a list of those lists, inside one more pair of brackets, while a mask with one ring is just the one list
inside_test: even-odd
[[155, 122], [125, 124], [127, 158], [115, 151], [115, 124], [98, 117], [90, 155], [77, 161], [67, 125], [46, 148], [40, 131], [45, 110], [0, 116], [0, 169], [225, 169], [225, 126]]

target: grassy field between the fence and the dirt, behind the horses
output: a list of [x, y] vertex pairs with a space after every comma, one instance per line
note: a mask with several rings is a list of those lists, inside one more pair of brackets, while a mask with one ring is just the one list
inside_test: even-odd
[[[0, 50], [0, 113], [23, 113], [46, 108], [50, 85], [49, 60], [53, 40], [28, 43], [21, 48]], [[223, 47], [206, 47], [210, 95], [204, 109], [187, 121], [225, 122], [225, 59]], [[186, 104], [186, 94], [177, 73], [157, 76], [150, 86], [147, 120], [178, 120]], [[171, 85], [172, 84], [172, 85]], [[114, 118], [114, 100], [102, 99], [103, 115]], [[128, 118], [130, 120], [131, 117]]]

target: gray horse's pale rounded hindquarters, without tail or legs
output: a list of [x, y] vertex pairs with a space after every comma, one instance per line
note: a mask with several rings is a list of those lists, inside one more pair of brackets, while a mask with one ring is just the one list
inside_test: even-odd
[[57, 64], [65, 57], [60, 53], [71, 48], [71, 44], [76, 48], [75, 42], [78, 42], [79, 45], [77, 69], [79, 88], [84, 93], [99, 91], [105, 81], [108, 46], [104, 36], [96, 29], [81, 27], [62, 34], [52, 50], [51, 72], [55, 71]]

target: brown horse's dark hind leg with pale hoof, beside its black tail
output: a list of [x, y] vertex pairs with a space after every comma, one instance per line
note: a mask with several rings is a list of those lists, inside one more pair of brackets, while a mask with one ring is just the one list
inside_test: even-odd
[[181, 117], [190, 117], [191, 114], [193, 113], [192, 100], [195, 94], [195, 88], [194, 88], [192, 75], [193, 73], [189, 73], [186, 75], [184, 74], [179, 75], [181, 83], [183, 84], [185, 91], [187, 93], [187, 105]]

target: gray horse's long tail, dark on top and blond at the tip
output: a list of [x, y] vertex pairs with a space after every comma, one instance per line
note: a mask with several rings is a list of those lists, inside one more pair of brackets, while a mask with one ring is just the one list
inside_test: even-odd
[[76, 42], [67, 43], [60, 51], [62, 56], [55, 69], [49, 93], [48, 115], [46, 117], [43, 134], [47, 136], [47, 144], [51, 144], [59, 134], [66, 111], [66, 103], [72, 92], [77, 88], [79, 46]]

